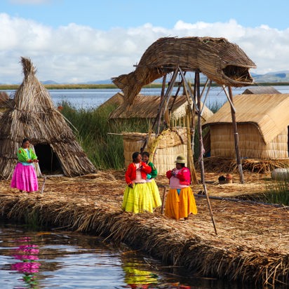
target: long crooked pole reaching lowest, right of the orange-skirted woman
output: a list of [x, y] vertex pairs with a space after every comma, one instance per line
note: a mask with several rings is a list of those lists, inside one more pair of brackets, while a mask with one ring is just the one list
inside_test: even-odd
[[198, 105], [198, 134], [199, 134], [199, 164], [201, 168], [201, 181], [203, 183], [203, 191], [206, 194], [206, 199], [208, 203], [208, 208], [210, 210], [210, 217], [213, 222], [213, 226], [215, 229], [215, 234], [217, 235], [217, 228], [213, 216], [213, 211], [210, 206], [210, 199], [208, 196], [208, 191], [206, 187], [206, 182], [205, 182], [205, 168], [203, 166], [203, 131], [202, 131], [202, 123], [201, 123], [201, 95], [200, 95], [200, 74], [199, 71], [195, 72], [195, 85], [194, 87], [196, 88], [196, 99], [197, 99], [197, 105]]

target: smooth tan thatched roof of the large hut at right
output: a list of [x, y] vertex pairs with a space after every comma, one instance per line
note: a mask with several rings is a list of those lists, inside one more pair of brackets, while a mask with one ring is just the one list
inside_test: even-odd
[[[257, 126], [265, 144], [289, 125], [289, 94], [236, 95], [234, 107], [236, 122]], [[231, 122], [231, 107], [226, 102], [203, 126]]]

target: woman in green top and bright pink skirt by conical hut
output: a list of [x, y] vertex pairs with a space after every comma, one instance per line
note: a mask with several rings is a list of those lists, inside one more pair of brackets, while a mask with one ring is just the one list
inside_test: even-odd
[[27, 193], [38, 190], [37, 176], [33, 163], [38, 163], [38, 159], [33, 149], [29, 147], [28, 138], [22, 140], [22, 145], [18, 149], [18, 163], [13, 172], [11, 187]]

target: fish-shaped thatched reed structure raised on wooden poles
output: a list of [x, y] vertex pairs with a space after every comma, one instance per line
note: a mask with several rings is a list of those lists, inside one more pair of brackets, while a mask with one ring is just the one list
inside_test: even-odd
[[142, 55], [134, 72], [113, 79], [121, 88], [125, 102], [132, 105], [142, 86], [181, 67], [196, 71], [225, 86], [249, 86], [253, 83], [249, 69], [255, 63], [239, 46], [224, 38], [165, 37], [152, 43]]

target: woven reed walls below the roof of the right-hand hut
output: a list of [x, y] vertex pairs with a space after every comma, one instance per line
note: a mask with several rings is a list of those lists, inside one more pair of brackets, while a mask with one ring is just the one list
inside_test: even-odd
[[[287, 129], [267, 145], [253, 123], [238, 123], [238, 147], [242, 158], [285, 159], [288, 158]], [[231, 124], [210, 126], [210, 155], [234, 158], [235, 142]]]

